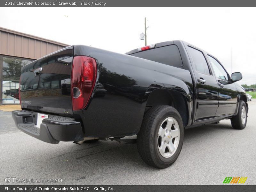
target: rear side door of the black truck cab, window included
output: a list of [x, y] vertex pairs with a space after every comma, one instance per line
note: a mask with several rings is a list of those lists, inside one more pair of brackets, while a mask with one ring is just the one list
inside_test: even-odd
[[196, 76], [195, 121], [215, 117], [218, 108], [218, 84], [208, 66], [204, 53], [187, 46], [188, 55]]

